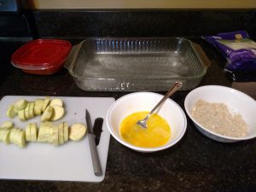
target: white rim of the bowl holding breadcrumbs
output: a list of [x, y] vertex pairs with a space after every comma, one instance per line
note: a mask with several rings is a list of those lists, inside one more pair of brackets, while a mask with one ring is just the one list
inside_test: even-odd
[[210, 89], [210, 88], [219, 88], [219, 89], [222, 89], [222, 90], [232, 90], [234, 92], [237, 92], [238, 94], [241, 94], [243, 96], [246, 96], [247, 99], [249, 100], [252, 100], [253, 102], [255, 102], [255, 100], [253, 99], [253, 97], [251, 96], [248, 96], [247, 94], [241, 92], [240, 90], [235, 90], [233, 88], [230, 88], [230, 87], [226, 87], [226, 86], [222, 86], [222, 85], [204, 85], [204, 86], [201, 86], [201, 87], [197, 87], [195, 88], [194, 90], [191, 90], [189, 92], [189, 94], [186, 96], [185, 98], [185, 101], [184, 101], [184, 108], [185, 108], [185, 111], [186, 113], [189, 115], [189, 118], [192, 119], [194, 121], [194, 123], [198, 126], [200, 126], [204, 131], [207, 131], [209, 133], [211, 133], [212, 135], [215, 135], [215, 136], [218, 136], [218, 137], [222, 137], [224, 139], [230, 139], [230, 140], [236, 140], [236, 141], [241, 141], [241, 140], [247, 140], [247, 139], [252, 139], [252, 138], [255, 138], [256, 135], [253, 135], [251, 137], [228, 137], [228, 136], [223, 136], [223, 135], [220, 135], [216, 132], [213, 132], [213, 131], [210, 131], [208, 130], [206, 127], [204, 127], [203, 125], [201, 125], [200, 123], [198, 123], [191, 115], [190, 115], [190, 111], [189, 111], [189, 108], [187, 107], [188, 106], [188, 98], [190, 95], [192, 95], [194, 92], [196, 91], [199, 91], [199, 90], [204, 90], [204, 89]]

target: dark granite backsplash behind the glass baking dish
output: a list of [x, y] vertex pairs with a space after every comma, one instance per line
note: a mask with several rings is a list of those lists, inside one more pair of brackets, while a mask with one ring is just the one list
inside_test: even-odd
[[35, 10], [37, 38], [199, 37], [246, 30], [256, 37], [256, 9]]

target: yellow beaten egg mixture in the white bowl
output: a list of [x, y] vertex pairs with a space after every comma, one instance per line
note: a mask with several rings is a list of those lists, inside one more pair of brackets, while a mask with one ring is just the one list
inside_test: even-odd
[[156, 148], [165, 145], [171, 138], [171, 127], [166, 119], [153, 113], [147, 122], [148, 127], [137, 125], [138, 120], [146, 117], [148, 112], [131, 113], [120, 125], [120, 135], [123, 139], [137, 147]]

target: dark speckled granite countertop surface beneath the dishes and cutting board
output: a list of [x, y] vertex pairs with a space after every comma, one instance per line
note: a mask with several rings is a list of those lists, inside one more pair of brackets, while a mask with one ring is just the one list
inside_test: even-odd
[[[231, 86], [222, 71], [224, 58], [203, 40], [192, 40], [201, 44], [212, 62], [200, 85]], [[183, 108], [188, 93], [178, 91], [172, 99]], [[80, 90], [66, 69], [51, 76], [37, 76], [13, 68], [0, 84], [0, 98], [49, 95], [111, 96], [117, 99], [125, 94], [127, 92]], [[183, 139], [174, 147], [157, 153], [135, 152], [111, 137], [106, 176], [101, 183], [0, 180], [0, 191], [256, 191], [256, 140], [214, 142], [197, 131], [187, 118], [188, 127]]]

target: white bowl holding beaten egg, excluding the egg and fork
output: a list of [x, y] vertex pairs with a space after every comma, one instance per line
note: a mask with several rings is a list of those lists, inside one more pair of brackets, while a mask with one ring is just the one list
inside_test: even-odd
[[107, 125], [111, 135], [126, 147], [145, 153], [170, 148], [177, 143], [186, 131], [187, 119], [183, 109], [172, 99], [167, 99], [160, 110], [156, 112], [166, 119], [171, 126], [172, 137], [166, 145], [157, 148], [140, 148], [125, 142], [119, 134], [119, 126], [125, 117], [139, 111], [151, 111], [162, 97], [162, 95], [153, 92], [136, 92], [120, 97], [108, 109]]

